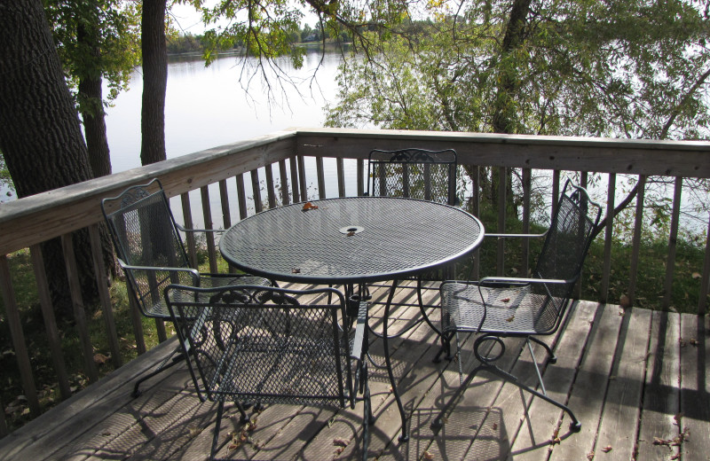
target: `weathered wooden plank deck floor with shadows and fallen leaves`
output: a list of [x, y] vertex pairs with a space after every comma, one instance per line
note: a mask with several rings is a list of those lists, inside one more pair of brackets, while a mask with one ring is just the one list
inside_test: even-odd
[[[403, 289], [399, 301], [414, 302]], [[437, 292], [428, 292], [436, 297]], [[382, 301], [382, 290], [375, 292]], [[432, 301], [436, 301], [433, 299]], [[382, 306], [373, 309], [373, 324]], [[398, 309], [397, 324], [418, 316]], [[457, 363], [432, 363], [438, 346], [421, 324], [393, 341], [399, 390], [411, 417], [411, 440], [399, 444], [399, 416], [383, 370], [370, 367], [376, 422], [369, 457], [399, 459], [710, 459], [710, 399], [706, 357], [707, 319], [697, 316], [576, 302], [550, 344], [557, 363], [544, 369], [548, 395], [569, 402], [580, 433], [553, 405], [533, 399], [489, 375], [477, 376], [462, 393], [444, 427], [430, 423], [454, 395]], [[470, 343], [470, 341], [468, 341]], [[533, 384], [530, 356], [508, 343], [505, 365]], [[133, 379], [174, 347], [169, 340], [140, 359], [0, 440], [0, 460], [205, 459], [215, 405], [201, 403], [182, 364], [147, 381], [130, 398]], [[382, 363], [382, 343], [371, 347]], [[538, 352], [538, 351], [536, 351]], [[542, 354], [539, 355], [541, 362]], [[464, 368], [475, 366], [464, 360]], [[335, 411], [272, 405], [255, 427], [238, 422], [230, 408], [223, 420], [219, 457], [228, 459], [350, 459], [361, 445], [362, 409]], [[233, 417], [233, 418], [229, 418]], [[235, 434], [234, 437], [230, 433]], [[246, 441], [233, 443], [246, 436]]]

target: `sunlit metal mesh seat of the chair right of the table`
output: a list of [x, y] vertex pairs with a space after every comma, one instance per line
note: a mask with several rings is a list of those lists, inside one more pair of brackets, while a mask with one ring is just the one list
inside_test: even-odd
[[[547, 334], [556, 327], [556, 309], [545, 309], [549, 300], [556, 305], [562, 302], [533, 293], [531, 285], [481, 286], [479, 292], [478, 285], [446, 283], [441, 286], [442, 327], [445, 332], [475, 332], [481, 326], [481, 332], [501, 335]], [[484, 311], [485, 322], [480, 325]]]

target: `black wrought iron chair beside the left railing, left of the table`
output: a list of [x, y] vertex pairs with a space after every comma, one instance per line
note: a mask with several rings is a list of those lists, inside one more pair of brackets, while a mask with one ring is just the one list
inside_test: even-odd
[[[234, 284], [272, 285], [262, 277], [234, 274], [201, 274], [190, 267], [179, 226], [158, 179], [123, 191], [117, 197], [101, 201], [101, 210], [114, 241], [118, 262], [126, 275], [129, 291], [141, 314], [170, 321], [170, 312], [162, 291], [171, 283], [192, 286]], [[181, 349], [177, 348], [176, 352]], [[171, 355], [158, 367], [138, 379], [133, 396], [140, 395], [140, 384], [176, 363], [181, 357]]]

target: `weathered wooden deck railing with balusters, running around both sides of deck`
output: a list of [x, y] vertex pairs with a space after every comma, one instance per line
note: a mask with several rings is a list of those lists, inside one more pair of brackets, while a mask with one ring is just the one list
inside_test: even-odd
[[[112, 176], [101, 177], [82, 184], [71, 185], [25, 199], [18, 199], [0, 206], [0, 291], [4, 301], [2, 321], [8, 325], [12, 347], [17, 362], [28, 410], [32, 416], [41, 412], [37, 397], [36, 379], [28, 354], [28, 345], [23, 333], [22, 306], [19, 306], [13, 287], [13, 273], [9, 259], [19, 251], [29, 251], [36, 278], [36, 299], [44, 321], [49, 344], [46, 354], [51, 355], [59, 382], [62, 399], [71, 394], [67, 378], [66, 361], [60, 346], [59, 325], [53, 314], [50, 290], [42, 264], [41, 246], [51, 238], [60, 238], [69, 272], [67, 291], [75, 304], [75, 323], [82, 341], [85, 374], [90, 381], [98, 374], [93, 366], [93, 350], [83, 318], [83, 300], [78, 290], [75, 274], [72, 239], [75, 230], [88, 229], [91, 236], [94, 271], [98, 275], [100, 309], [106, 325], [110, 354], [115, 367], [122, 365], [119, 339], [116, 336], [111, 297], [106, 283], [106, 267], [101, 258], [99, 223], [101, 199], [114, 196], [133, 184], [143, 184], [158, 177], [168, 193], [173, 207], [182, 208], [181, 216], [190, 227], [193, 214], [206, 228], [227, 228], [249, 213], [263, 207], [276, 207], [306, 199], [324, 199], [335, 196], [362, 194], [365, 190], [365, 163], [367, 153], [373, 149], [398, 149], [422, 147], [430, 149], [453, 148], [458, 153], [459, 164], [477, 181], [479, 168], [517, 168], [522, 178], [523, 231], [530, 229], [530, 178], [533, 171], [548, 170], [552, 178], [549, 197], [559, 194], [562, 171], [580, 172], [584, 184], [590, 173], [601, 173], [608, 178], [606, 192], [607, 214], [615, 206], [618, 175], [638, 176], [643, 183], [648, 176], [667, 176], [675, 181], [672, 221], [668, 235], [668, 259], [664, 281], [664, 307], [670, 302], [674, 283], [675, 244], [678, 234], [681, 191], [684, 178], [710, 178], [710, 143], [615, 140], [571, 137], [501, 136], [467, 133], [440, 133], [421, 131], [383, 131], [355, 129], [293, 129], [270, 136], [225, 145], [196, 152], [154, 165], [135, 168]], [[332, 160], [331, 160], [332, 159]], [[314, 164], [314, 168], [306, 168]], [[328, 166], [328, 167], [327, 167]], [[335, 168], [335, 172], [327, 171]], [[355, 168], [353, 175], [351, 169]], [[335, 177], [327, 184], [326, 173]], [[332, 174], [331, 174], [332, 173]], [[348, 177], [351, 179], [348, 179]], [[505, 175], [501, 175], [505, 176]], [[251, 184], [250, 187], [247, 184]], [[264, 184], [264, 185], [262, 185]], [[332, 184], [333, 191], [327, 190]], [[212, 186], [212, 187], [210, 187]], [[248, 191], [247, 189], [250, 189]], [[199, 190], [199, 199], [196, 199]], [[190, 191], [195, 191], [191, 199]], [[470, 200], [471, 209], [478, 210], [478, 188]], [[499, 209], [505, 207], [506, 185], [500, 184]], [[217, 199], [218, 195], [218, 199]], [[179, 197], [179, 199], [177, 199]], [[643, 210], [643, 188], [637, 199], [635, 230], [633, 231], [631, 270], [628, 275], [627, 293], [634, 302]], [[239, 216], [233, 216], [232, 209]], [[554, 200], [553, 200], [554, 206]], [[193, 209], [200, 207], [200, 210]], [[217, 208], [217, 209], [216, 209]], [[221, 212], [220, 212], [221, 209]], [[505, 213], [499, 213], [499, 221], [493, 231], [505, 231]], [[213, 223], [215, 218], [217, 223]], [[710, 230], [710, 223], [708, 223]], [[607, 301], [611, 273], [612, 221], [604, 232], [604, 272], [599, 282], [599, 300]], [[489, 230], [491, 231], [491, 230]], [[708, 232], [710, 233], [710, 231]], [[194, 260], [196, 244], [188, 240], [189, 253]], [[208, 241], [209, 269], [217, 271], [218, 251], [213, 241]], [[498, 244], [499, 272], [503, 269], [504, 243]], [[523, 266], [526, 270], [527, 246], [523, 247]], [[477, 268], [474, 268], [477, 270]], [[706, 312], [708, 281], [710, 281], [710, 243], [705, 241], [705, 259], [698, 293], [698, 314]], [[136, 309], [133, 309], [134, 311]], [[138, 314], [135, 314], [138, 316]], [[134, 319], [134, 335], [138, 353], [146, 350], [139, 318]], [[160, 340], [166, 339], [164, 328], [159, 325]], [[5, 382], [0, 371], [0, 382]], [[3, 402], [0, 402], [2, 406]], [[5, 402], [6, 404], [7, 402]], [[4, 409], [4, 406], [2, 406]], [[4, 411], [3, 411], [4, 415]], [[4, 418], [0, 418], [0, 434], [8, 434]]]

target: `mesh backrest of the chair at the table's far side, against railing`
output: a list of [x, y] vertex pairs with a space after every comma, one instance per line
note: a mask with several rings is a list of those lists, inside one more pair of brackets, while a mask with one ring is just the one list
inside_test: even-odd
[[425, 199], [455, 205], [456, 152], [400, 149], [370, 152], [367, 195]]

